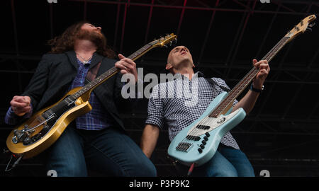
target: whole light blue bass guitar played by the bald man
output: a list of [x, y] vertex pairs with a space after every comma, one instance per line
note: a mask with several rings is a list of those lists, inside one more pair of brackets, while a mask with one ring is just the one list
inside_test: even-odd
[[[281, 50], [287, 42], [304, 33], [310, 22], [315, 20], [315, 15], [304, 18], [289, 31], [263, 59], [268, 62]], [[239, 108], [232, 110], [232, 105], [237, 96], [245, 90], [252, 79], [259, 72], [253, 68], [230, 92], [223, 92], [217, 96], [206, 111], [191, 125], [185, 127], [169, 144], [168, 154], [187, 166], [201, 166], [209, 161], [216, 153], [216, 149], [225, 133], [233, 129], [245, 118], [245, 110]]]

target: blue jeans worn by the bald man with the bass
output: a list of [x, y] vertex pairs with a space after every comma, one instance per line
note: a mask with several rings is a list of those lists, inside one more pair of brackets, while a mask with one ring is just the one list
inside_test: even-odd
[[[188, 166], [177, 163], [180, 173], [187, 174]], [[220, 144], [210, 161], [195, 167], [191, 176], [200, 177], [254, 177], [254, 169], [240, 150]]]

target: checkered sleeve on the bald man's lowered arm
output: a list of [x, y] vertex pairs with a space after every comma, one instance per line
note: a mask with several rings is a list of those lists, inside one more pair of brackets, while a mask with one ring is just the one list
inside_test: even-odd
[[159, 85], [154, 86], [147, 105], [147, 120], [145, 124], [156, 125], [159, 129], [164, 127], [163, 99], [159, 95]]

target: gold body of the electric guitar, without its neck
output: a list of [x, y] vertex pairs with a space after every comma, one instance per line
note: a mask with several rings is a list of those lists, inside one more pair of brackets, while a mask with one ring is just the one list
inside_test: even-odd
[[[8, 149], [13, 154], [23, 154], [23, 158], [30, 158], [51, 146], [76, 117], [92, 109], [88, 101], [89, 94], [84, 94], [77, 100], [68, 99], [80, 88], [82, 87], [72, 89], [60, 101], [40, 110], [22, 125], [16, 127], [6, 139]], [[25, 127], [36, 128], [34, 131], [23, 133]], [[18, 137], [21, 137], [20, 140]], [[29, 138], [26, 139], [26, 137]]]

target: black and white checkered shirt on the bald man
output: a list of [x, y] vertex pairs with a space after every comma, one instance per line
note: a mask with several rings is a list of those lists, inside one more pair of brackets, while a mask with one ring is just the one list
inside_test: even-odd
[[[199, 71], [191, 81], [181, 74], [175, 74], [174, 80], [154, 86], [148, 101], [145, 124], [156, 125], [159, 129], [167, 127], [169, 139], [172, 141], [182, 129], [197, 120], [211, 101], [223, 92], [220, 86], [230, 89], [223, 79], [212, 79], [218, 86], [208, 82]], [[235, 100], [233, 105], [237, 103]], [[240, 149], [230, 132], [224, 135], [220, 143]]]

